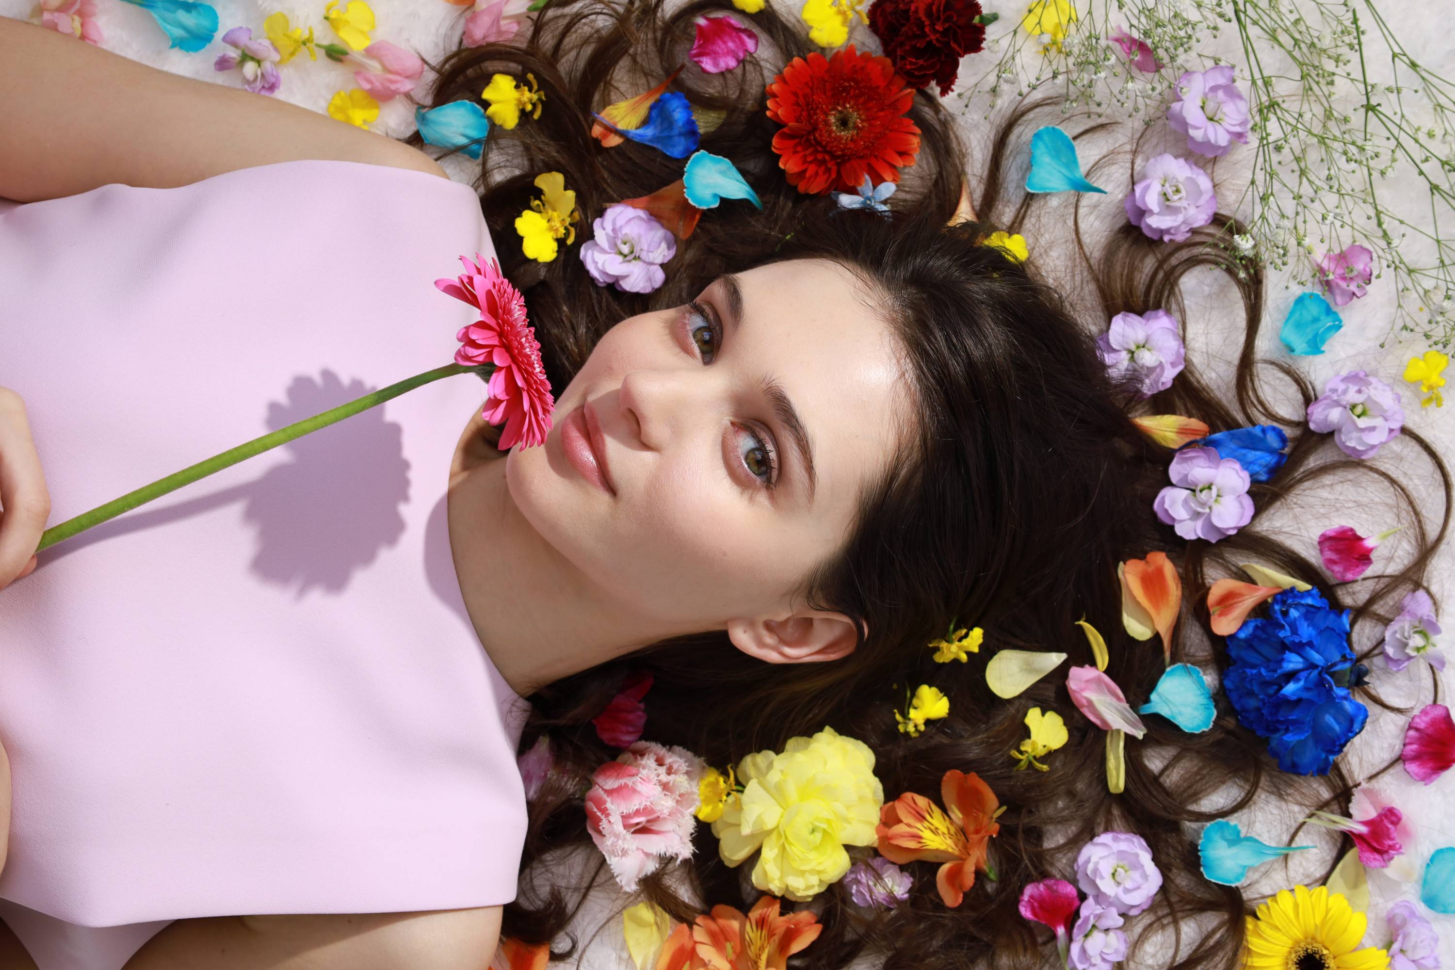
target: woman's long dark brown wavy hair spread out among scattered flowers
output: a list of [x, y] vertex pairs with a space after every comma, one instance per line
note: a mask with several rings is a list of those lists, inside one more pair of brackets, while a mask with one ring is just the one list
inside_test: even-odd
[[[490, 132], [476, 188], [502, 268], [525, 294], [556, 387], [569, 382], [615, 321], [679, 305], [720, 273], [778, 259], [828, 257], [856, 269], [880, 295], [906, 352], [920, 426], [885, 478], [863, 496], [844, 548], [806, 577], [803, 589], [815, 605], [863, 620], [870, 633], [844, 660], [773, 668], [735, 650], [723, 633], [704, 633], [534, 694], [522, 750], [549, 736], [554, 772], [531, 801], [522, 868], [546, 867], [544, 880], [535, 883], [547, 889], [537, 891], [522, 880], [521, 899], [505, 907], [503, 934], [551, 942], [562, 958], [579, 944], [563, 931], [579, 909], [582, 887], [551, 886], [553, 859], [546, 857], [589, 841], [582, 794], [591, 772], [617, 752], [598, 740], [588, 720], [624, 676], [645, 670], [655, 678], [645, 737], [688, 747], [719, 768], [828, 724], [873, 749], [886, 798], [905, 791], [934, 795], [944, 772], [956, 768], [978, 772], [1008, 806], [991, 843], [998, 878], [982, 878], [957, 909], [940, 902], [928, 868], [911, 868], [917, 875], [911, 897], [892, 910], [858, 909], [844, 886], [834, 884], [813, 900], [822, 935], [792, 960], [794, 966], [842, 967], [866, 954], [883, 958], [886, 967], [917, 970], [1042, 966], [1049, 939], [1017, 913], [1020, 891], [1033, 880], [1068, 875], [1068, 851], [1106, 829], [1142, 835], [1164, 874], [1157, 907], [1131, 926], [1141, 941], [1155, 931], [1173, 935], [1171, 955], [1158, 963], [1232, 966], [1247, 903], [1238, 889], [1202, 877], [1190, 826], [1235, 813], [1260, 791], [1310, 807], [1347, 807], [1350, 779], [1337, 766], [1324, 778], [1276, 771], [1266, 743], [1219, 700], [1216, 723], [1202, 734], [1148, 718], [1147, 739], [1126, 747], [1125, 793], [1113, 795], [1103, 769], [1103, 731], [1075, 713], [1064, 679], [1045, 678], [1007, 702], [986, 688], [985, 663], [1004, 647], [1059, 650], [1072, 665], [1091, 663], [1074, 625], [1085, 617], [1109, 640], [1110, 676], [1133, 707], [1145, 701], [1164, 659], [1155, 640], [1139, 643], [1123, 633], [1116, 567], [1152, 550], [1171, 557], [1183, 582], [1174, 660], [1225, 668], [1221, 643], [1195, 628], [1206, 627], [1211, 580], [1245, 561], [1320, 577], [1318, 589], [1331, 605], [1353, 606], [1356, 630], [1360, 622], [1385, 622], [1388, 612], [1381, 611], [1422, 586], [1445, 535], [1451, 493], [1445, 465], [1408, 429], [1390, 445], [1404, 449], [1406, 458], [1422, 452], [1438, 473], [1445, 509], [1430, 525], [1404, 484], [1407, 476], [1343, 460], [1327, 436], [1308, 432], [1304, 406], [1314, 398], [1308, 381], [1256, 353], [1264, 279], [1257, 265], [1229, 254], [1229, 236], [1243, 231], [1232, 215], [1219, 214], [1177, 244], [1154, 243], [1123, 225], [1090, 247], [1078, 231], [1077, 256], [1099, 304], [1083, 308], [1084, 321], [1040, 282], [1033, 262], [1017, 265], [976, 244], [992, 228], [1016, 231], [1035, 209], [1036, 201], [1010, 183], [1011, 159], [1024, 144], [1023, 122], [1035, 106], [998, 128], [979, 177], [972, 177], [978, 221], [947, 225], [970, 169], [953, 118], [925, 92], [911, 109], [922, 148], [890, 199], [892, 218], [834, 215], [831, 201], [799, 193], [770, 148], [777, 127], [764, 112], [764, 86], [790, 58], [816, 48], [796, 17], [771, 6], [751, 17], [761, 45], [742, 67], [706, 76], [688, 65], [672, 84], [704, 122], [701, 148], [732, 159], [762, 209], [736, 202], [704, 214], [666, 265], [666, 284], [649, 295], [597, 286], [575, 246], [550, 263], [527, 259], [512, 223], [537, 195], [537, 173], [560, 172], [575, 189], [585, 215], [578, 233], [589, 233], [591, 218], [607, 205], [681, 177], [682, 163], [655, 148], [631, 141], [602, 148], [588, 134], [592, 112], [650, 87], [687, 61], [694, 17], [728, 10], [716, 0], [687, 0], [671, 10], [663, 0], [551, 0], [509, 44], [458, 49], [434, 65], [438, 80], [423, 103], [477, 99], [496, 71], [518, 79], [531, 73], [546, 93], [538, 121]], [[420, 144], [418, 134], [410, 143]], [[1215, 391], [1189, 362], [1170, 390], [1142, 403], [1109, 380], [1094, 333], [1122, 311], [1161, 307], [1184, 320], [1181, 281], [1200, 269], [1225, 273], [1241, 300], [1245, 329], [1232, 390]], [[1302, 406], [1280, 412], [1266, 378], [1282, 385], [1283, 400], [1296, 397]], [[1167, 483], [1171, 452], [1139, 433], [1129, 417], [1133, 409], [1199, 417], [1213, 430], [1251, 423], [1285, 428], [1292, 441], [1286, 465], [1251, 490], [1254, 526], [1213, 545], [1181, 541], [1158, 524], [1151, 503]], [[1256, 526], [1317, 481], [1349, 474], [1374, 476], [1390, 487], [1414, 554], [1397, 573], [1330, 586], [1318, 563]], [[984, 627], [986, 646], [969, 663], [937, 665], [925, 644], [956, 620]], [[1374, 650], [1371, 644], [1362, 656]], [[905, 686], [921, 682], [943, 689], [952, 711], [911, 739], [896, 730], [893, 710], [904, 704]], [[1363, 697], [1384, 704], [1368, 688]], [[1049, 774], [1013, 771], [1008, 758], [1035, 705], [1062, 711], [1071, 733]], [[668, 886], [665, 873], [647, 877], [642, 894], [681, 921], [691, 921], [701, 905], [746, 909], [754, 893], [744, 870], [720, 862], [706, 825], [698, 826], [695, 849], [685, 897]], [[610, 875], [597, 865], [594, 878]]]

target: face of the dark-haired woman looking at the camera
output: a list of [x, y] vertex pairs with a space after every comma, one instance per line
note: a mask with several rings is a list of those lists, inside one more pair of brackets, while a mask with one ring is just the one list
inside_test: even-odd
[[896, 454], [908, 400], [854, 273], [780, 262], [613, 327], [506, 480], [544, 540], [653, 628], [781, 620]]

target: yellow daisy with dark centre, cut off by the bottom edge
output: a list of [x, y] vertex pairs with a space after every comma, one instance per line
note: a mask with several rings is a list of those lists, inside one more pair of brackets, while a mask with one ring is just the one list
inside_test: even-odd
[[1248, 916], [1245, 970], [1388, 970], [1390, 954], [1363, 942], [1365, 915], [1326, 886], [1295, 886]]

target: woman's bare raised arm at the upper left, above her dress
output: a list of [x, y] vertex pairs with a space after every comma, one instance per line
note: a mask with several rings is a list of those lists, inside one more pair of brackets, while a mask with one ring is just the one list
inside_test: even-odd
[[295, 159], [447, 177], [422, 151], [319, 112], [0, 17], [0, 196], [35, 202], [113, 182], [172, 188]]

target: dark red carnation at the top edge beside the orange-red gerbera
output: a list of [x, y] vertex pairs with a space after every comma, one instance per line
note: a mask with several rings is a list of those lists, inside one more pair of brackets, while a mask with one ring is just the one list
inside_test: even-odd
[[960, 58], [985, 45], [979, 16], [976, 0], [874, 0], [869, 29], [911, 87], [933, 81], [943, 97], [954, 90]]

